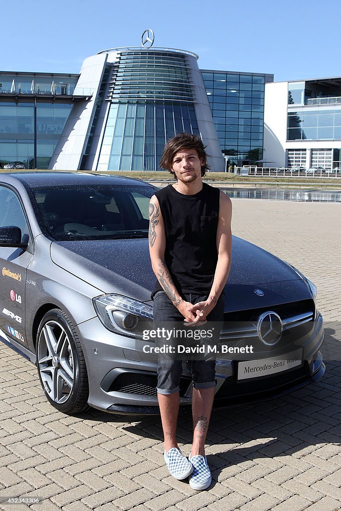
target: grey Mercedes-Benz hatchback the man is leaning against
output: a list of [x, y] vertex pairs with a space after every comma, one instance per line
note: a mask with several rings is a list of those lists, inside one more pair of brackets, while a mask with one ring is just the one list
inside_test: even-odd
[[[155, 344], [145, 338], [154, 193], [143, 181], [101, 174], [0, 174], [0, 340], [36, 364], [46, 398], [64, 413], [88, 405], [158, 413]], [[279, 396], [325, 370], [315, 286], [237, 237], [232, 260], [219, 348], [253, 352], [217, 355], [215, 407]], [[184, 364], [181, 406], [191, 395]]]

